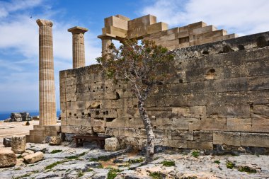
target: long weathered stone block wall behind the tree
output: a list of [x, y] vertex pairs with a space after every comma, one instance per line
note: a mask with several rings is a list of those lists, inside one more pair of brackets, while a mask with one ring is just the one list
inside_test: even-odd
[[[146, 103], [156, 144], [269, 147], [268, 40], [261, 33], [175, 50], [168, 70], [176, 76]], [[143, 146], [146, 133], [128, 87], [105, 79], [98, 65], [60, 71], [62, 132]]]

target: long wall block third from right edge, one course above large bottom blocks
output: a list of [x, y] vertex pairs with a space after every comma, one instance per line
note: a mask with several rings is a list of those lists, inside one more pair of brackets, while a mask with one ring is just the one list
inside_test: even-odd
[[227, 130], [226, 118], [189, 118], [190, 130]]

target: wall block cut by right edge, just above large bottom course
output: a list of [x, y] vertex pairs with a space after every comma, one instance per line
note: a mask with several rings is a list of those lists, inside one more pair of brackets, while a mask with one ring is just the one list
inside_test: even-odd
[[253, 118], [252, 132], [269, 132], [269, 118]]

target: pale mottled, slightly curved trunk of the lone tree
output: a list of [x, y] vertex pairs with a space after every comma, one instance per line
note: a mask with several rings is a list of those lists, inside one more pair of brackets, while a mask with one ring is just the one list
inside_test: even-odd
[[138, 100], [138, 110], [140, 117], [144, 123], [144, 127], [147, 132], [147, 158], [146, 163], [149, 163], [153, 161], [154, 157], [154, 133], [151, 126], [151, 120], [149, 119], [149, 116], [147, 115], [147, 111], [144, 109], [144, 101], [142, 99]]

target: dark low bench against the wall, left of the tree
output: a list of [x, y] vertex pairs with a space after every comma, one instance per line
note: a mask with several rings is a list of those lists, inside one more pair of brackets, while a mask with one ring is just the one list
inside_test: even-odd
[[99, 147], [99, 149], [104, 149], [105, 146], [105, 139], [109, 137], [99, 137], [99, 136], [92, 136], [92, 135], [75, 135], [73, 137], [76, 142], [76, 146], [83, 146], [83, 143], [86, 139], [89, 141], [95, 141]]

